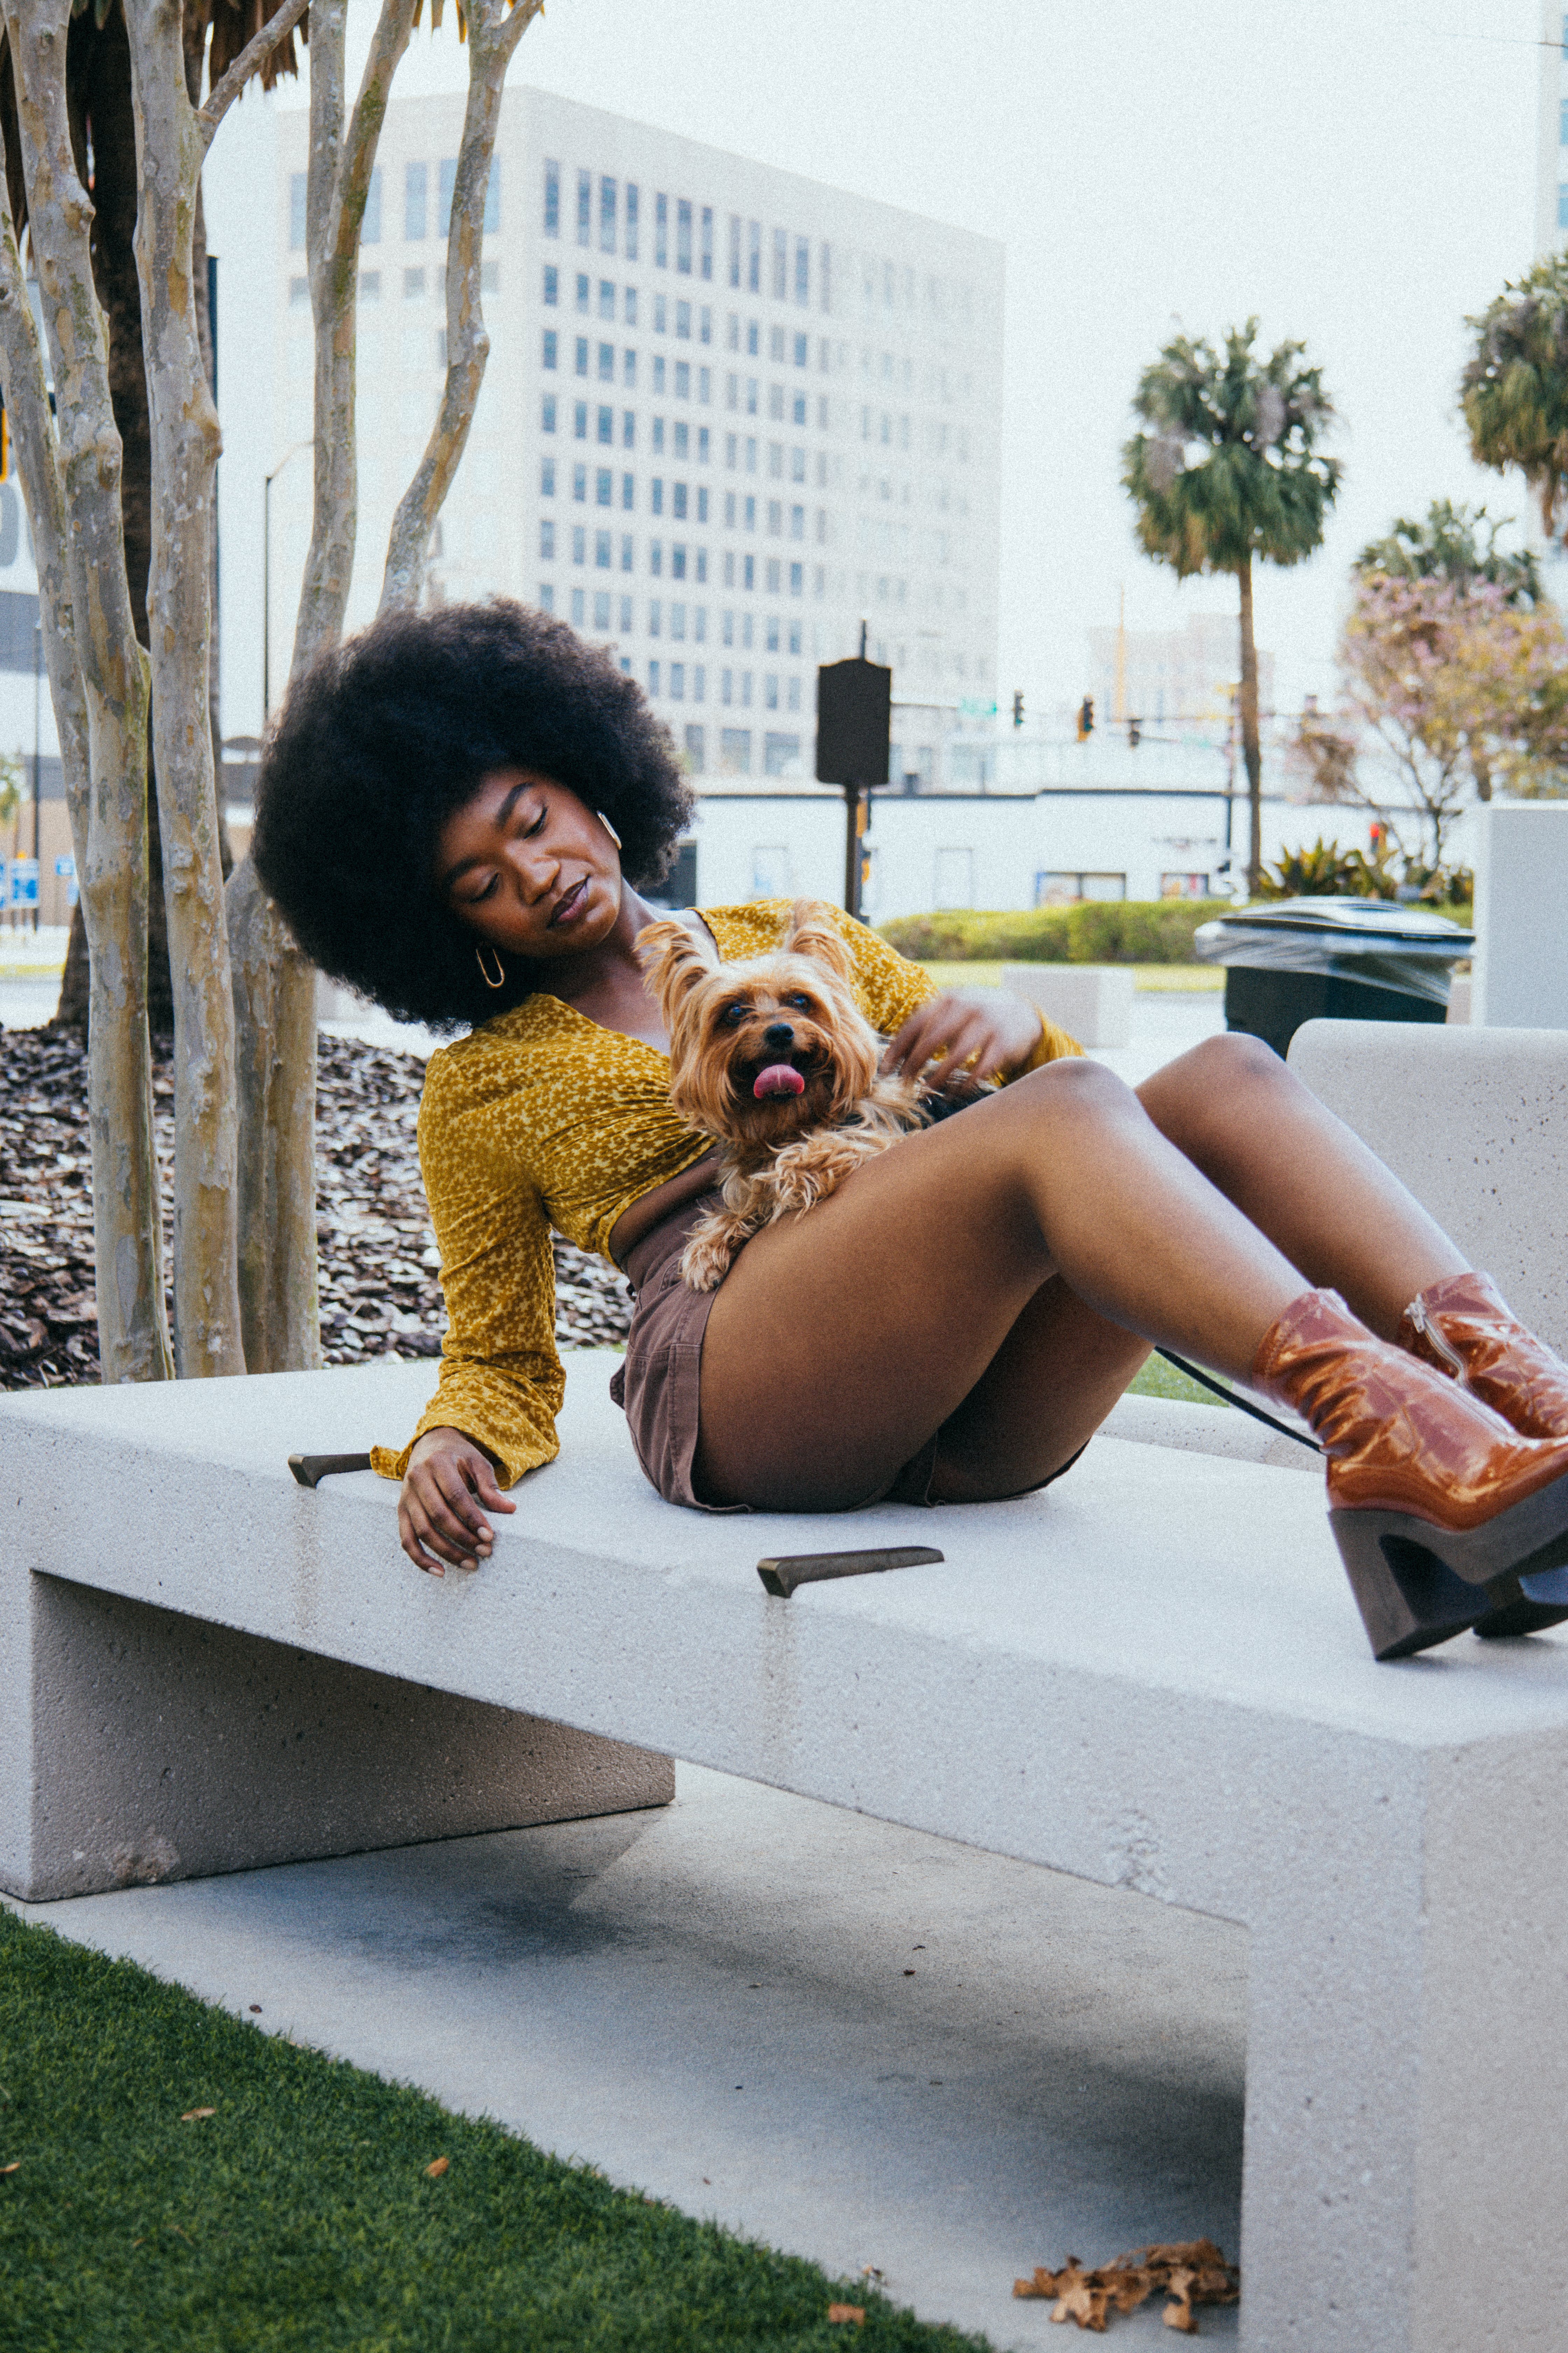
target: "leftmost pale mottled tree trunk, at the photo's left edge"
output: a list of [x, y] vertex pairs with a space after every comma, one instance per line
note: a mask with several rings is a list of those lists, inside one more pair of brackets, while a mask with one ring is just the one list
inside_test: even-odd
[[[73, 664], [87, 711], [89, 786], [75, 821], [80, 889], [92, 948], [87, 1099], [92, 1127], [99, 1362], [106, 1381], [167, 1379], [153, 1073], [148, 1052], [148, 668], [136, 642], [120, 518], [120, 433], [108, 381], [103, 313], [89, 249], [92, 205], [82, 188], [66, 111], [71, 0], [24, 0], [7, 19], [16, 71], [16, 125], [28, 191], [28, 231], [49, 334], [56, 426], [19, 428], [28, 452], [28, 515], [40, 567], [49, 565], [45, 475], [59, 466], [61, 569], [71, 638], [61, 647], [59, 600], [42, 602], [49, 685]], [[9, 391], [9, 386], [7, 386]], [[21, 391], [21, 386], [16, 386]], [[40, 388], [42, 391], [42, 388]], [[40, 572], [40, 586], [45, 574]], [[71, 781], [71, 706], [56, 694]]]

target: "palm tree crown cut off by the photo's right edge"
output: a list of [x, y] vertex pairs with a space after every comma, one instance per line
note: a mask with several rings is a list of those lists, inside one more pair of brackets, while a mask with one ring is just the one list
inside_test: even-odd
[[1460, 409], [1481, 466], [1519, 466], [1547, 539], [1568, 485], [1568, 252], [1547, 254], [1465, 320], [1476, 346], [1460, 376]]

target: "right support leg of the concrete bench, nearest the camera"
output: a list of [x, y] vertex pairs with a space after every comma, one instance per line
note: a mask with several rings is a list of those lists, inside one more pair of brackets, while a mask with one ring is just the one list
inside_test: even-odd
[[1556, 2344], [1568, 1741], [1382, 1748], [1349, 1779], [1253, 1927], [1241, 2344]]

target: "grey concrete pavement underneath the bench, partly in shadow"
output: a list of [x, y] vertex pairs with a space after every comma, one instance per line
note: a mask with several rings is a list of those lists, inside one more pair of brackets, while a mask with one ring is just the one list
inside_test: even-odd
[[1063, 2341], [1034, 2264], [1237, 2254], [1241, 1929], [698, 1767], [661, 1814], [19, 1908], [994, 2346]]

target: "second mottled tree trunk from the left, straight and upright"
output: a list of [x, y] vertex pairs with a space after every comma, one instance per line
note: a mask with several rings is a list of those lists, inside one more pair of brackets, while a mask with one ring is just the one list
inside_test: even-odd
[[[193, 285], [205, 139], [186, 96], [181, 0], [125, 0], [134, 82], [136, 271], [150, 435], [153, 748], [174, 988], [174, 1348], [181, 1379], [244, 1372], [235, 1005], [212, 760], [212, 489], [219, 412]], [[200, 287], [207, 304], [207, 287]]]

